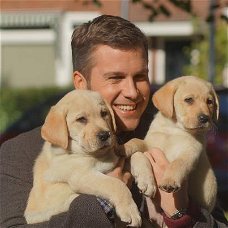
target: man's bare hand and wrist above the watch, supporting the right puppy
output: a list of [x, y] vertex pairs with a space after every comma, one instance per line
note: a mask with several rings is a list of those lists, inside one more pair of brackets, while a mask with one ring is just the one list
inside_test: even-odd
[[[165, 157], [164, 153], [157, 148], [145, 152], [145, 155], [151, 162], [157, 185], [159, 185], [164, 171], [169, 165], [169, 161]], [[166, 213], [166, 215], [170, 217], [177, 210], [188, 207], [189, 198], [187, 189], [187, 182], [184, 183], [183, 186], [181, 186], [181, 189], [175, 193], [167, 193], [161, 189], [158, 189], [155, 196], [155, 203], [157, 203]]]

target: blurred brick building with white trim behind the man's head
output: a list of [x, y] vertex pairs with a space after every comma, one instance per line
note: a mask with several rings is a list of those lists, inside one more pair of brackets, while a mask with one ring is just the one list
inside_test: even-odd
[[[1, 87], [66, 86], [72, 82], [70, 41], [73, 29], [101, 14], [118, 15], [135, 23], [149, 40], [149, 77], [163, 83], [182, 73], [188, 61], [184, 48], [205, 29], [210, 0], [193, 0], [202, 19], [195, 29], [192, 16], [166, 5], [170, 16], [153, 22], [150, 10], [131, 0], [1, 0]], [[159, 4], [144, 0], [148, 4]], [[224, 1], [225, 2], [225, 1]], [[221, 4], [221, 10], [225, 5]], [[221, 13], [221, 10], [218, 13]]]

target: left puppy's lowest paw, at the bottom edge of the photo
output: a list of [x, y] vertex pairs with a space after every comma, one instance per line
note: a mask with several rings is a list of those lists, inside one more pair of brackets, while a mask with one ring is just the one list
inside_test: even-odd
[[126, 206], [118, 205], [116, 213], [121, 221], [127, 223], [127, 226], [140, 227], [142, 224], [140, 213], [134, 201]]

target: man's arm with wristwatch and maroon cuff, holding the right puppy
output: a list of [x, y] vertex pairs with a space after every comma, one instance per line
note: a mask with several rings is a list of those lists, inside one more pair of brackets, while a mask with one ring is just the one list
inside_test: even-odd
[[[150, 150], [145, 153], [151, 162], [155, 178], [159, 183], [164, 170], [168, 165], [168, 160], [165, 158], [162, 151], [158, 149]], [[166, 225], [169, 228], [177, 227], [227, 227], [228, 222], [221, 210], [216, 205], [214, 211], [209, 213], [207, 210], [202, 209], [199, 205], [195, 204], [193, 199], [189, 199], [187, 192], [187, 183], [181, 190], [175, 193], [167, 193], [162, 190], [158, 190], [156, 197], [158, 205], [163, 210], [162, 215]], [[173, 215], [177, 210], [184, 209], [183, 215], [180, 218], [173, 219]]]

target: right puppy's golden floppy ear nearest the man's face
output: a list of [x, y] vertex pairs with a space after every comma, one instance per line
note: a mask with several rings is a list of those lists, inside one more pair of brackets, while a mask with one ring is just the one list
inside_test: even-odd
[[177, 90], [176, 81], [170, 81], [156, 91], [152, 97], [154, 106], [166, 117], [174, 114], [174, 94]]

